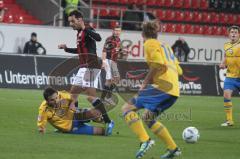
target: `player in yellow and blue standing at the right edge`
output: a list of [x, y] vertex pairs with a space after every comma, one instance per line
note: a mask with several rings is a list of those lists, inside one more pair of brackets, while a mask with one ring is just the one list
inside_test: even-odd
[[227, 68], [224, 80], [224, 109], [226, 121], [221, 126], [233, 126], [232, 93], [240, 91], [240, 27], [231, 26], [229, 29], [230, 42], [225, 43], [225, 57], [220, 68]]

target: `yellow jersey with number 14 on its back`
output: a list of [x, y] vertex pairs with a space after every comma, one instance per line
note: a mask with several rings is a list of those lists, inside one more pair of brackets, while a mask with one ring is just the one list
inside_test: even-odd
[[[149, 68], [159, 71], [153, 76], [153, 86], [167, 94], [179, 96], [178, 75], [182, 74], [172, 48], [156, 39], [148, 39], [144, 43], [145, 59]], [[161, 68], [166, 68], [163, 73]]]

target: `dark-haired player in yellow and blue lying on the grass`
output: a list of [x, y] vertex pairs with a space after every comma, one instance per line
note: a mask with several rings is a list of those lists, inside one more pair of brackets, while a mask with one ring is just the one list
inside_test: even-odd
[[49, 87], [43, 92], [44, 101], [39, 107], [37, 126], [45, 133], [49, 122], [59, 132], [86, 135], [108, 135], [103, 127], [87, 124], [89, 120], [101, 122], [101, 113], [97, 109], [77, 110], [75, 100], [65, 91], [56, 91]]

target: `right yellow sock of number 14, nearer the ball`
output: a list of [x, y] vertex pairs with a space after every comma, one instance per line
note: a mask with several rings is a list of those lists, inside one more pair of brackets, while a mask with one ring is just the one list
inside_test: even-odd
[[171, 134], [168, 132], [167, 128], [163, 124], [156, 121], [150, 129], [155, 135], [157, 135], [161, 140], [164, 141], [168, 149], [174, 150], [177, 148], [177, 145], [174, 142]]

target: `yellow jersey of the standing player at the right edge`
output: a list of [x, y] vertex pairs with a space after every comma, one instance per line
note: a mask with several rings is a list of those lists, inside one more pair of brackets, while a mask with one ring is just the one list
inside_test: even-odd
[[225, 43], [225, 64], [227, 66], [227, 77], [240, 78], [240, 40], [232, 44]]

